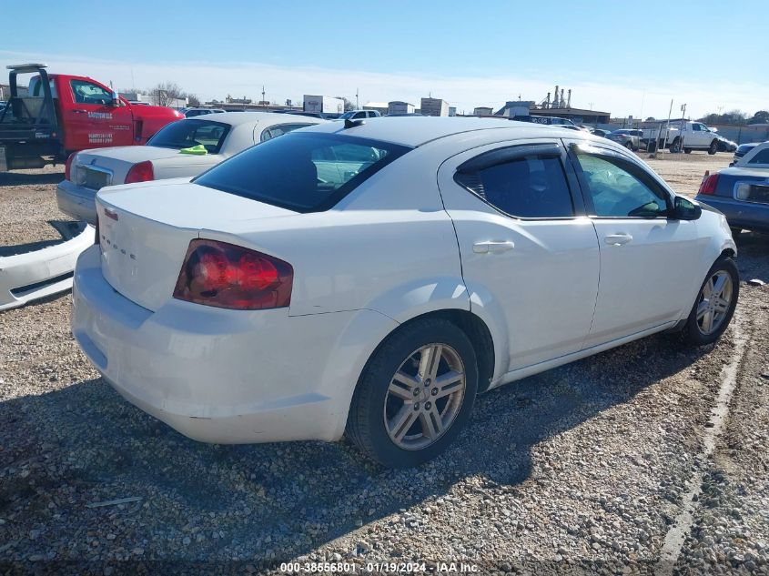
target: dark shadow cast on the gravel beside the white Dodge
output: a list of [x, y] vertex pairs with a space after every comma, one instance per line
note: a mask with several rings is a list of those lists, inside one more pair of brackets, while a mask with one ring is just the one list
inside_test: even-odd
[[[0, 561], [52, 553], [125, 560], [137, 548], [145, 559], [285, 561], [424, 500], [451, 498], [459, 482], [465, 491], [528, 490], [521, 484], [531, 478], [539, 442], [629, 401], [709, 350], [653, 337], [492, 390], [450, 450], [413, 470], [383, 470], [346, 441], [188, 440], [102, 379], [6, 400], [0, 542], [11, 545], [0, 549]], [[86, 506], [126, 497], [142, 500]], [[35, 540], [20, 536], [32, 530]], [[86, 538], [90, 530], [96, 536]]]

